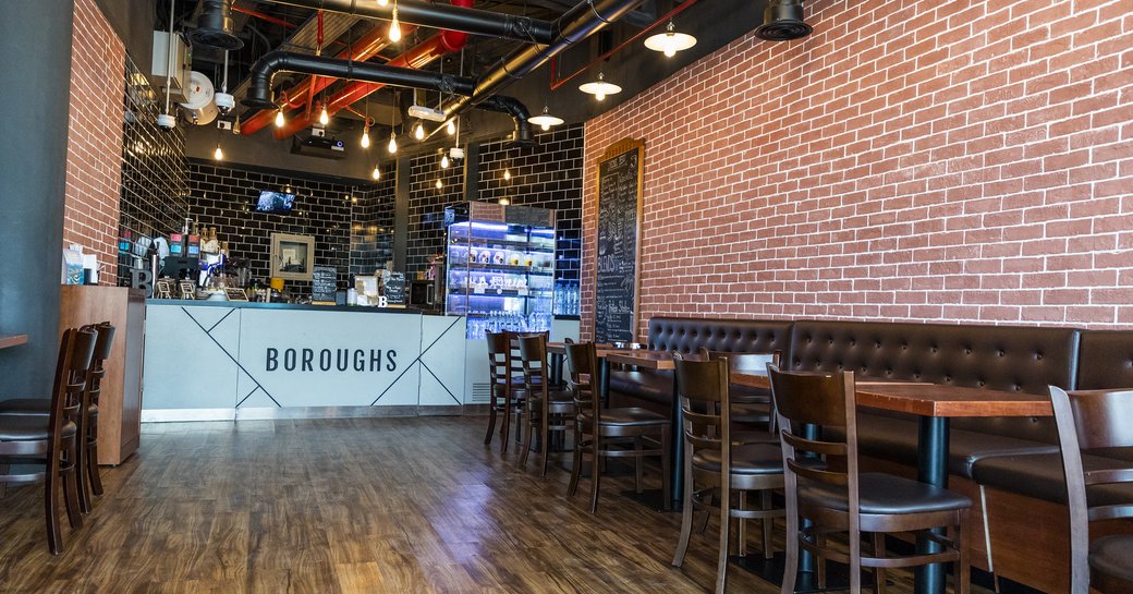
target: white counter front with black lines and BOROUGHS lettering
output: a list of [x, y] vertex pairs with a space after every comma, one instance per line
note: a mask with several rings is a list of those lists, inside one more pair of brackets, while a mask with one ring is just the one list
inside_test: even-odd
[[465, 402], [465, 319], [152, 300], [142, 419], [436, 414]]

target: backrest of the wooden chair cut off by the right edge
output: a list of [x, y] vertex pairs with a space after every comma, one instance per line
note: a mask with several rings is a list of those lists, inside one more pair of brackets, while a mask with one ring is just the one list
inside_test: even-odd
[[1090, 568], [1089, 524], [1094, 520], [1133, 518], [1133, 502], [1090, 506], [1087, 487], [1133, 483], [1133, 467], [1087, 472], [1082, 452], [1117, 448], [1133, 449], [1133, 390], [1083, 390], [1066, 392], [1050, 387], [1050, 404], [1058, 427], [1066, 500], [1070, 508], [1071, 592], [1085, 594]]

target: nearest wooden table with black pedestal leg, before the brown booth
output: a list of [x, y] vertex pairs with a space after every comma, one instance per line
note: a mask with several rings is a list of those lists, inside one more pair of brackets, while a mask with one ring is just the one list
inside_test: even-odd
[[[732, 373], [732, 383], [767, 388], [767, 375]], [[918, 416], [917, 480], [934, 486], [948, 486], [948, 438], [951, 417], [1053, 416], [1046, 396], [943, 385], [935, 383], [858, 382], [858, 406], [895, 410]], [[939, 552], [932, 541], [918, 538], [918, 553]], [[944, 565], [919, 568], [914, 592], [944, 592]]]

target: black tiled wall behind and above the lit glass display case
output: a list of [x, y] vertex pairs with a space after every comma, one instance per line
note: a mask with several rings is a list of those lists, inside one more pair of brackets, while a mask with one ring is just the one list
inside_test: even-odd
[[[506, 142], [480, 145], [479, 195], [476, 200], [538, 206], [557, 211], [556, 277], [578, 280], [582, 198], [582, 126], [536, 134], [537, 145], [509, 147]], [[444, 207], [465, 201], [463, 163], [441, 170], [437, 155], [412, 160], [409, 200], [410, 274], [428, 268], [444, 247]], [[511, 173], [503, 179], [504, 170]], [[442, 187], [436, 187], [437, 179]]]

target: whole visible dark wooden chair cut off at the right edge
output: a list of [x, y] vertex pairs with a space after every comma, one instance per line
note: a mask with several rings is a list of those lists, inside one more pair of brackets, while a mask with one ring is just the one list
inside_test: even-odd
[[1133, 450], [1133, 390], [1065, 392], [1050, 387], [1050, 404], [1058, 426], [1066, 499], [1070, 508], [1071, 594], [1091, 588], [1104, 594], [1133, 592], [1133, 534], [1102, 536], [1090, 542], [1093, 521], [1133, 518], [1133, 501], [1096, 504], [1090, 487], [1133, 483], [1128, 464], [1116, 468], [1087, 469], [1082, 452], [1122, 448]]

